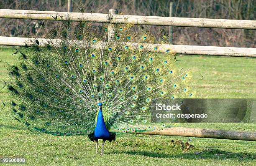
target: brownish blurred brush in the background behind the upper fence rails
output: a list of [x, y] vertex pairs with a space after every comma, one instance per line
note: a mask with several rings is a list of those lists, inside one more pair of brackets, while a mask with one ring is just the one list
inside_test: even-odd
[[[127, 15], [169, 16], [169, 3], [174, 2], [173, 16], [187, 18], [218, 18], [255, 20], [255, 0], [73, 0], [73, 12], [84, 8], [87, 13], [108, 13], [118, 9]], [[67, 0], [2, 0], [2, 9], [67, 11]], [[56, 24], [44, 21], [46, 26]], [[43, 36], [38, 20], [0, 19], [0, 35], [15, 37]], [[97, 24], [95, 24], [97, 26]], [[142, 26], [145, 27], [145, 26]], [[168, 27], [151, 27], [152, 33]], [[256, 46], [254, 30], [218, 28], [173, 28], [173, 44], [225, 47]]]

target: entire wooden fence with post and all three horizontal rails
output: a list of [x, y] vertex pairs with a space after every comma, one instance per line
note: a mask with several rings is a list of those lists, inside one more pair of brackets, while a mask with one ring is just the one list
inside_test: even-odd
[[[108, 39], [111, 42], [115, 23], [132, 23], [138, 25], [166, 25], [166, 26], [184, 26], [184, 27], [202, 27], [202, 28], [232, 28], [232, 29], [253, 29], [256, 30], [255, 20], [224, 20], [208, 18], [175, 18], [175, 17], [155, 17], [139, 15], [118, 15], [116, 9], [110, 9], [108, 14], [100, 13], [67, 13], [35, 10], [8, 10], [0, 9], [0, 18], [19, 18], [33, 20], [72, 20], [81, 19], [90, 22], [109, 23]], [[25, 46], [24, 41], [31, 38], [0, 37], [0, 45]], [[40, 40], [41, 46], [44, 46], [47, 39]], [[28, 46], [31, 43], [27, 43]], [[128, 43], [131, 47], [136, 47], [140, 43]], [[97, 45], [95, 45], [97, 47]], [[238, 56], [238, 57], [256, 57], [256, 48], [235, 48], [235, 47], [211, 47], [197, 45], [161, 45], [155, 51], [154, 44], [148, 44], [149, 51], [164, 53], [166, 49], [172, 49], [177, 54], [190, 55], [218, 55], [218, 56]], [[161, 131], [140, 132], [139, 134], [154, 134], [167, 136], [188, 136], [202, 138], [220, 138], [256, 141], [256, 132], [246, 131], [223, 131], [209, 130], [200, 128], [167, 128]]]

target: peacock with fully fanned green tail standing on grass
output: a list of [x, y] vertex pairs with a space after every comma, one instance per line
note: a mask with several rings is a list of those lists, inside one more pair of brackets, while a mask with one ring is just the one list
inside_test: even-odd
[[86, 19], [61, 21], [45, 34], [46, 40], [24, 41], [18, 63], [8, 65], [11, 111], [31, 132], [87, 135], [96, 154], [102, 140], [103, 154], [116, 133], [168, 126], [151, 122], [154, 101], [193, 96], [191, 74], [175, 67], [172, 48], [156, 53], [166, 36], [156, 40], [128, 23], [95, 33]]

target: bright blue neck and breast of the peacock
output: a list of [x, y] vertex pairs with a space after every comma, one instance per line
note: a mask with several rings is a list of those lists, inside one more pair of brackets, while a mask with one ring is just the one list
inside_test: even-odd
[[97, 123], [94, 131], [95, 139], [107, 139], [110, 138], [110, 133], [105, 125], [103, 114], [102, 114], [102, 107], [100, 104], [100, 111], [97, 116]]

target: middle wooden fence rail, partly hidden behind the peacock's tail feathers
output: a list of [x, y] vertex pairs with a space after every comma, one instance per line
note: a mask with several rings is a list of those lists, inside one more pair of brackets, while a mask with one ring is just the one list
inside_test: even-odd
[[[28, 46], [35, 44], [35, 38], [18, 38], [18, 37], [4, 37], [0, 36], [0, 45], [10, 46], [25, 46], [25, 42]], [[41, 47], [46, 46], [49, 42], [61, 43], [59, 39], [43, 39], [38, 38]], [[75, 42], [83, 42], [75, 40]], [[110, 43], [97, 42], [95, 44], [96, 49], [103, 47], [107, 48]], [[256, 57], [256, 48], [238, 48], [238, 47], [213, 47], [213, 46], [198, 46], [198, 45], [167, 45], [167, 44], [146, 44], [146, 43], [125, 43], [129, 48], [138, 48], [140, 45], [150, 51], [156, 53], [169, 53], [176, 54], [190, 54], [190, 55], [216, 55], [216, 56], [236, 56], [236, 57]], [[157, 47], [157, 50], [154, 48]]]

